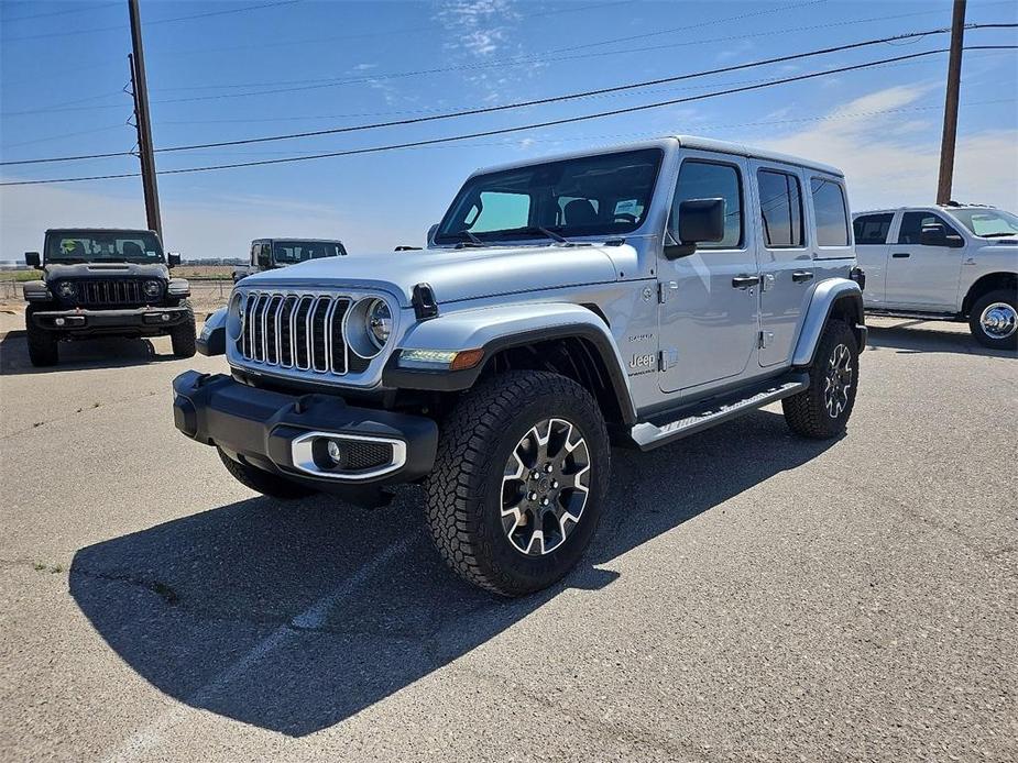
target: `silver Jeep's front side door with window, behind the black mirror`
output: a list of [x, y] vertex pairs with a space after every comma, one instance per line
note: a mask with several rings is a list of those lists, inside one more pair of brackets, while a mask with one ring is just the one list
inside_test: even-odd
[[746, 223], [747, 166], [689, 152], [679, 168], [669, 231], [678, 236], [678, 209], [690, 199], [724, 199], [725, 234], [690, 255], [661, 258], [661, 389], [697, 392], [737, 379], [754, 362], [757, 286], [753, 228]]

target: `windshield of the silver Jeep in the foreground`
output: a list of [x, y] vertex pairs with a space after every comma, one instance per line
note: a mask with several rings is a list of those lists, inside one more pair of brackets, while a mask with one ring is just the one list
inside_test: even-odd
[[650, 209], [661, 156], [645, 148], [477, 175], [452, 201], [435, 241], [632, 233]]

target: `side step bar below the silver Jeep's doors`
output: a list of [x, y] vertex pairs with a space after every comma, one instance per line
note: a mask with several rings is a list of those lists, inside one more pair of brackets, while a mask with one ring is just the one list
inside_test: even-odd
[[786, 376], [762, 387], [753, 387], [748, 392], [743, 391], [743, 395], [748, 395], [746, 397], [729, 396], [692, 403], [677, 411], [680, 418], [675, 421], [667, 423], [645, 421], [635, 424], [630, 432], [630, 436], [633, 438], [633, 441], [641, 450], [649, 451], [659, 445], [681, 440], [689, 434], [710, 429], [722, 421], [737, 418], [743, 413], [748, 413], [781, 398], [801, 392], [807, 387], [809, 387], [809, 377], [806, 374], [798, 374], [793, 377]]

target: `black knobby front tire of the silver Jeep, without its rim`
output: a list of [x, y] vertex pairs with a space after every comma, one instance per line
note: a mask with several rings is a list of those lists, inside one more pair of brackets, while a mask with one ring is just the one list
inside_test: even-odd
[[[533, 556], [518, 551], [503, 529], [502, 480], [521, 439], [554, 418], [571, 423], [585, 441], [589, 493], [565, 540]], [[604, 418], [583, 387], [538, 371], [492, 377], [466, 394], [441, 423], [435, 468], [425, 485], [435, 545], [457, 574], [494, 594], [522, 596], [546, 588], [579, 562], [590, 543], [610, 468]]]

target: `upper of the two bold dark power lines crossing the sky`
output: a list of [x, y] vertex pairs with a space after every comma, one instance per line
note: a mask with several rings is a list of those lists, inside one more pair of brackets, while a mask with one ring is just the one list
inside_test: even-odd
[[[1000, 27], [1016, 27], [1016, 26], [1018, 26], [1018, 24], [973, 24], [973, 29], [986, 29], [986, 27], [1000, 29]], [[773, 58], [765, 58], [762, 60], [748, 62], [744, 64], [734, 64], [732, 66], [723, 66], [723, 67], [718, 67], [714, 69], [707, 69], [703, 71], [694, 71], [694, 73], [689, 73], [689, 74], [683, 74], [683, 75], [676, 75], [671, 77], [660, 77], [657, 79], [649, 79], [649, 80], [644, 80], [641, 82], [630, 82], [625, 85], [616, 85], [614, 87], [609, 87], [609, 88], [599, 88], [595, 90], [585, 90], [582, 92], [573, 92], [573, 93], [567, 93], [562, 96], [550, 96], [548, 98], [537, 98], [537, 99], [532, 99], [528, 101], [518, 101], [515, 103], [504, 103], [501, 106], [489, 106], [489, 107], [481, 107], [481, 108], [475, 108], [475, 109], [466, 109], [461, 111], [452, 111], [452, 112], [447, 112], [447, 113], [441, 113], [441, 114], [414, 117], [409, 119], [391, 120], [386, 122], [373, 122], [369, 124], [349, 125], [349, 126], [343, 126], [343, 128], [330, 128], [327, 130], [313, 130], [313, 131], [307, 131], [307, 132], [287, 133], [283, 135], [266, 135], [262, 137], [248, 137], [248, 139], [240, 139], [236, 141], [218, 141], [218, 142], [212, 142], [212, 143], [195, 143], [195, 144], [189, 144], [189, 145], [167, 146], [163, 148], [156, 148], [156, 152], [157, 153], [169, 153], [169, 152], [180, 152], [180, 151], [195, 151], [195, 150], [200, 150], [200, 148], [221, 148], [226, 146], [249, 145], [252, 143], [270, 143], [270, 142], [276, 142], [276, 141], [299, 140], [299, 139], [305, 139], [305, 137], [319, 137], [322, 135], [337, 135], [337, 134], [342, 134], [342, 133], [362, 132], [366, 130], [377, 130], [382, 128], [407, 126], [411, 124], [422, 124], [425, 122], [435, 122], [439, 120], [459, 119], [462, 117], [477, 117], [481, 114], [490, 114], [490, 113], [496, 113], [496, 112], [508, 111], [508, 110], [514, 110], [514, 109], [524, 109], [524, 108], [529, 108], [534, 106], [546, 106], [549, 103], [560, 103], [565, 101], [578, 100], [581, 98], [591, 98], [591, 97], [603, 96], [607, 93], [628, 91], [628, 90], [634, 90], [638, 88], [652, 87], [655, 85], [665, 85], [669, 82], [683, 81], [687, 79], [696, 79], [699, 77], [708, 77], [708, 76], [712, 76], [716, 74], [727, 74], [731, 71], [740, 71], [744, 69], [756, 68], [759, 66], [769, 66], [771, 64], [787, 63], [790, 60], [798, 60], [802, 58], [809, 58], [812, 56], [829, 55], [831, 53], [839, 53], [843, 51], [868, 47], [872, 45], [879, 45], [879, 44], [887, 43], [890, 41], [924, 37], [924, 36], [933, 35], [933, 34], [945, 34], [948, 32], [950, 32], [949, 29], [929, 30], [924, 32], [911, 32], [907, 34], [894, 35], [890, 37], [878, 37], [876, 40], [865, 40], [862, 42], [849, 43], [845, 45], [835, 45], [832, 47], [818, 48], [816, 51], [809, 51], [806, 53], [795, 53], [795, 54], [789, 54], [786, 56], [776, 56]], [[105, 153], [105, 154], [87, 154], [87, 155], [77, 155], [77, 156], [54, 156], [54, 157], [36, 158], [36, 159], [19, 159], [19, 161], [12, 161], [12, 162], [0, 162], [0, 166], [28, 165], [28, 164], [51, 164], [55, 162], [79, 162], [84, 159], [112, 158], [116, 156], [127, 156], [127, 155], [130, 155], [130, 152], [111, 152], [111, 153]]]

